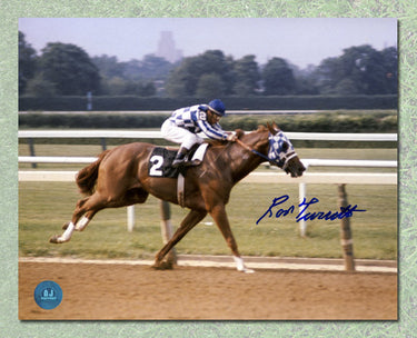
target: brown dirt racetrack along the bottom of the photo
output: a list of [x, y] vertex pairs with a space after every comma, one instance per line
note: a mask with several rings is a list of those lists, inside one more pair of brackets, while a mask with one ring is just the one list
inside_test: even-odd
[[[62, 302], [33, 291], [53, 280]], [[19, 262], [21, 320], [396, 320], [397, 274]]]

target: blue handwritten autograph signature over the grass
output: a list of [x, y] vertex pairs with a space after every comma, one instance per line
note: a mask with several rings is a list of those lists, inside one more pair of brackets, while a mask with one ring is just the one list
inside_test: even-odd
[[[286, 217], [289, 213], [294, 213], [295, 206], [290, 206], [287, 209], [276, 208], [276, 207], [282, 205], [284, 202], [286, 202], [288, 199], [289, 199], [288, 195], [282, 195], [281, 197], [274, 198], [272, 203], [269, 206], [268, 210], [265, 211], [265, 213], [261, 217], [259, 217], [259, 219], [256, 221], [256, 223], [258, 225], [265, 217], [271, 218], [271, 217], [275, 216], [275, 218], [280, 218], [280, 217]], [[319, 200], [316, 197], [311, 198], [309, 201], [307, 201], [307, 199], [304, 198], [302, 202], [300, 202], [298, 205], [298, 207], [300, 209], [299, 209], [299, 212], [296, 217], [296, 221], [299, 222], [300, 220], [314, 220], [314, 219], [335, 220], [335, 219], [342, 219], [342, 218], [353, 217], [354, 212], [366, 211], [366, 210], [357, 209], [358, 208], [357, 205], [355, 205], [354, 207], [351, 205], [349, 205], [346, 208], [340, 207], [340, 211], [307, 212], [308, 207], [310, 207], [311, 205], [318, 203], [318, 202], [319, 202]], [[274, 208], [276, 208], [276, 209], [272, 210]]]

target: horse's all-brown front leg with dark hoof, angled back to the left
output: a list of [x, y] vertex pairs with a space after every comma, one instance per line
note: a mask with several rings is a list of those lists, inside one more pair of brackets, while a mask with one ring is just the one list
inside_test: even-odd
[[172, 238], [163, 246], [162, 249], [156, 256], [153, 268], [166, 269], [171, 268], [170, 265], [163, 265], [163, 257], [173, 248], [173, 246], [179, 242], [188, 231], [190, 231], [198, 222], [203, 219], [207, 215], [206, 210], [191, 210], [186, 218], [182, 220], [180, 227], [173, 233]]

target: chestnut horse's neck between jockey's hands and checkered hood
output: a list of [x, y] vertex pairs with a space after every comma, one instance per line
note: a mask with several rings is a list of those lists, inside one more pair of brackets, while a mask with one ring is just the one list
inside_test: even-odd
[[[267, 155], [268, 136], [266, 132], [247, 135], [241, 139], [241, 141], [251, 149], [265, 156]], [[241, 180], [265, 161], [265, 159], [262, 159], [260, 156], [245, 149], [238, 142], [232, 145], [229, 156], [234, 183]]]

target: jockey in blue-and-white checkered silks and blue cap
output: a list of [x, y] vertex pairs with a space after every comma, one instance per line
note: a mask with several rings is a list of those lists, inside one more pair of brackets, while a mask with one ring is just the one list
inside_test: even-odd
[[181, 145], [172, 162], [173, 168], [186, 163], [186, 156], [193, 145], [202, 143], [203, 139], [197, 136], [201, 131], [210, 139], [236, 141], [236, 135], [222, 130], [219, 125], [225, 115], [225, 105], [219, 99], [172, 112], [162, 123], [161, 132], [167, 140]]

